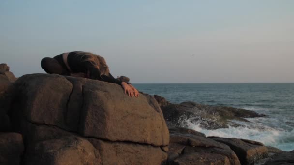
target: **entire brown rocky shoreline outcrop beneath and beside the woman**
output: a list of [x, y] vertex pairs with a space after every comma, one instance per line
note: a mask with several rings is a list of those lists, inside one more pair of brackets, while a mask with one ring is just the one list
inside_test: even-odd
[[[0, 70], [7, 73], [9, 67], [1, 64]], [[224, 121], [221, 124], [228, 124], [227, 119], [246, 121], [244, 117], [261, 116], [251, 111], [193, 102], [171, 104], [161, 96], [143, 93], [134, 98], [125, 95], [117, 84], [55, 74], [24, 75], [14, 82], [2, 72], [0, 165], [293, 162], [292, 152], [259, 142], [207, 138], [187, 128], [168, 130], [161, 107], [167, 122], [178, 120], [183, 114], [194, 118], [199, 115], [200, 119], [217, 114], [221, 117], [216, 123]], [[261, 159], [267, 155], [266, 149], [274, 156]]]

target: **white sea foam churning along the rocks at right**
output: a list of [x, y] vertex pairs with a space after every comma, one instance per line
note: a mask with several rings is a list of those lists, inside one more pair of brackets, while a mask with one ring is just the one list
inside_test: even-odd
[[[266, 120], [266, 119], [265, 119]], [[188, 128], [204, 133], [208, 136], [218, 136], [224, 138], [244, 138], [255, 140], [264, 143], [266, 146], [277, 147], [280, 150], [292, 151], [294, 150], [294, 129], [292, 131], [286, 131], [283, 129], [272, 128], [259, 121], [257, 118], [250, 119], [251, 123], [232, 121], [242, 126], [228, 128], [221, 128], [216, 130], [207, 130], [200, 126], [199, 123], [186, 120], [185, 124]]]

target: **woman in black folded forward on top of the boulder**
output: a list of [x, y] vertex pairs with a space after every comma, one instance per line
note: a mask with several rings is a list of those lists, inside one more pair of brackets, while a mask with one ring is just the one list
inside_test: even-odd
[[41, 67], [51, 74], [56, 73], [64, 76], [84, 77], [117, 83], [123, 87], [125, 94], [131, 97], [139, 96], [138, 90], [131, 83], [115, 79], [110, 74], [105, 59], [100, 55], [81, 51], [63, 53], [53, 58], [43, 58]]

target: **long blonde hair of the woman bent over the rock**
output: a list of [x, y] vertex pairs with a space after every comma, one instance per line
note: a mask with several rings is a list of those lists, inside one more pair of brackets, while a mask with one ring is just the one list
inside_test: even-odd
[[92, 54], [90, 52], [78, 52], [77, 54], [83, 54], [83, 56], [81, 57], [82, 62], [89, 61], [95, 68], [100, 71], [101, 75], [105, 74], [109, 76], [108, 65], [106, 64], [106, 61], [102, 56]]

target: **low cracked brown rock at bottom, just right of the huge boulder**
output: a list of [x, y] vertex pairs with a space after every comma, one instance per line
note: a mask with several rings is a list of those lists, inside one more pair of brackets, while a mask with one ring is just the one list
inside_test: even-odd
[[[191, 134], [193, 133], [193, 134]], [[240, 165], [225, 144], [189, 129], [170, 129], [168, 165]]]

